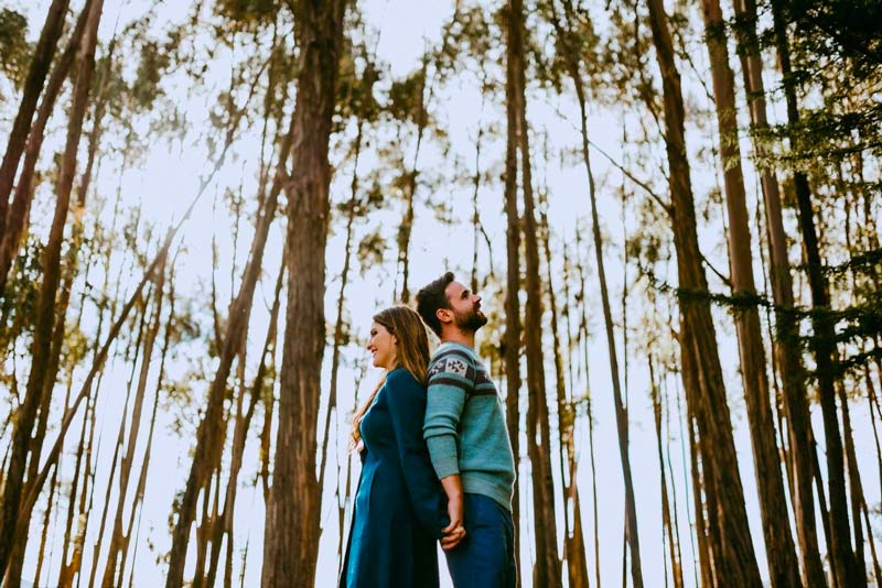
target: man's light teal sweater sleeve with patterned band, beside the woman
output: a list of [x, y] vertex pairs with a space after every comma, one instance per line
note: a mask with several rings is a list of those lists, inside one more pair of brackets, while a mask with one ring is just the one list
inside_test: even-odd
[[474, 388], [471, 358], [456, 349], [442, 351], [429, 368], [422, 435], [439, 478], [460, 472], [459, 427], [465, 400]]

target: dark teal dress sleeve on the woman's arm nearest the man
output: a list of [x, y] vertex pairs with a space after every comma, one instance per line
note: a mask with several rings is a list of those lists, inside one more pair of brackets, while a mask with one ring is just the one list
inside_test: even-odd
[[405, 475], [410, 504], [427, 533], [441, 538], [448, 525], [443, 494], [429, 461], [422, 439], [426, 391], [407, 370], [395, 370], [386, 378], [389, 415]]

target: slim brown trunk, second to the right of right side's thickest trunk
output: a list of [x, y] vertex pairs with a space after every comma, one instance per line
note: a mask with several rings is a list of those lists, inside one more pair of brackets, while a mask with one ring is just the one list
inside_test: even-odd
[[[733, 0], [733, 4], [735, 15], [740, 20], [735, 30], [740, 33], [739, 55], [750, 106], [751, 123], [754, 133], [767, 133], [770, 126], [763, 86], [763, 63], [756, 35], [756, 2], [755, 0]], [[827, 579], [820, 560], [815, 522], [815, 499], [811, 489], [811, 461], [815, 449], [811, 443], [811, 422], [806, 399], [805, 374], [799, 346], [796, 345], [798, 331], [793, 315], [793, 282], [782, 218], [781, 192], [774, 170], [764, 162], [767, 150], [762, 139], [754, 140], [754, 151], [759, 160], [760, 181], [765, 203], [772, 264], [768, 274], [775, 301], [776, 337], [774, 346], [787, 414], [787, 439], [795, 478], [793, 503], [796, 536], [803, 563], [803, 579], [806, 586], [825, 586]]]

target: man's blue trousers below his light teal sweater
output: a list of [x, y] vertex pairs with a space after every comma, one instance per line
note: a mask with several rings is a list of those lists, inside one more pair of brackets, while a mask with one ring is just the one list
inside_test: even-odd
[[465, 494], [465, 538], [444, 552], [456, 588], [515, 588], [515, 525], [492, 498]]

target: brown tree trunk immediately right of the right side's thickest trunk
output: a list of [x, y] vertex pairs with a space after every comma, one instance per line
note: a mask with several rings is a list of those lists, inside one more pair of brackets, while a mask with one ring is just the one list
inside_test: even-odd
[[753, 279], [751, 231], [738, 142], [735, 76], [729, 66], [729, 50], [719, 0], [701, 0], [701, 12], [704, 18], [706, 43], [720, 132], [723, 192], [729, 218], [732, 295], [747, 301], [746, 306], [736, 308], [734, 319], [768, 575], [773, 588], [797, 587], [802, 585], [799, 565], [790, 534], [787, 499], [784, 494], [781, 460], [775, 442], [774, 417], [768, 404], [768, 379], [763, 335], [760, 329], [760, 313], [753, 302], [756, 297], [756, 286]]

